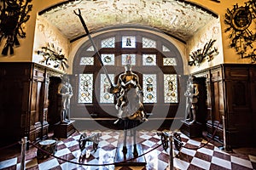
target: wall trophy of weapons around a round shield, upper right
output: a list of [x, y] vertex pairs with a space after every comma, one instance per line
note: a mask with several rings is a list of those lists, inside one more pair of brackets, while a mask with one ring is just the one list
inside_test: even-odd
[[251, 58], [252, 63], [256, 61], [255, 27], [256, 23], [256, 1], [249, 0], [245, 6], [239, 7], [236, 3], [233, 9], [227, 9], [224, 23], [229, 25], [225, 32], [230, 31], [230, 47], [236, 49], [236, 54], [243, 58]]

